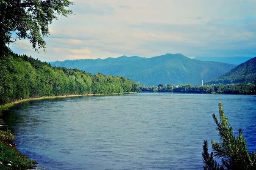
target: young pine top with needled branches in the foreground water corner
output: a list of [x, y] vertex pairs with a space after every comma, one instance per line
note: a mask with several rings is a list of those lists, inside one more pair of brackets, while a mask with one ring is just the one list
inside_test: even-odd
[[[228, 117], [224, 115], [223, 105], [219, 103], [220, 121], [213, 114], [213, 119], [217, 125], [220, 135], [220, 142], [211, 140], [214, 152], [208, 153], [207, 141], [203, 143], [203, 162], [205, 170], [255, 170], [256, 153], [248, 151], [246, 140], [242, 136], [242, 130], [239, 129], [239, 135], [236, 137], [232, 126], [228, 123]], [[221, 158], [223, 165], [219, 165], [214, 159]]]

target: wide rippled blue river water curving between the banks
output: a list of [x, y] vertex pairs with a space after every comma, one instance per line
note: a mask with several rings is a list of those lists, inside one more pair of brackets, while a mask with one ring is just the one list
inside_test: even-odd
[[[202, 169], [223, 102], [256, 151], [256, 96], [138, 93], [20, 103], [5, 120], [17, 148], [47, 169]], [[209, 146], [210, 148], [210, 146]]]

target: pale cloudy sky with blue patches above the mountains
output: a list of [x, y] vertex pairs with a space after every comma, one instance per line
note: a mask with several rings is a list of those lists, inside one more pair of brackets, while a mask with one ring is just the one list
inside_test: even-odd
[[73, 0], [50, 25], [46, 52], [28, 40], [17, 54], [43, 61], [107, 57], [255, 57], [256, 0]]

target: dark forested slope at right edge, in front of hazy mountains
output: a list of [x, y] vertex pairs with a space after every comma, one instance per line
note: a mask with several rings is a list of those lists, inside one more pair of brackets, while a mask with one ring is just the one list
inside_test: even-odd
[[228, 73], [208, 81], [208, 84], [231, 84], [231, 83], [248, 83], [256, 82], [256, 57], [249, 59]]

